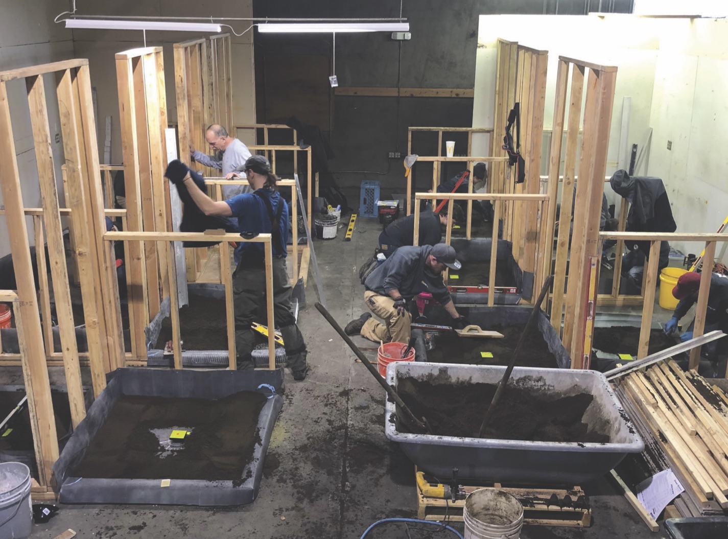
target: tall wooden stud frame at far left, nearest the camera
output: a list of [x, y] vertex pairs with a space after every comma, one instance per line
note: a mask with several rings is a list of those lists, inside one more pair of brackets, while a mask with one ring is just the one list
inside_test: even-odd
[[[7, 83], [22, 81], [25, 85], [28, 109], [33, 131], [41, 208], [23, 205], [22, 182], [18, 172]], [[47, 83], [52, 82], [50, 87]], [[17, 83], [13, 83], [17, 84]], [[55, 177], [55, 164], [51, 152], [51, 130], [47, 112], [47, 99], [58, 101], [60, 130], [65, 155], [66, 200], [69, 208], [61, 209]], [[25, 387], [31, 410], [33, 439], [39, 466], [39, 489], [52, 489], [51, 466], [58, 458], [58, 438], [50, 398], [47, 358], [62, 358], [71, 406], [71, 421], [77, 425], [85, 415], [79, 353], [71, 309], [68, 268], [63, 247], [61, 215], [69, 215], [76, 260], [79, 269], [86, 336], [89, 347], [87, 357], [95, 395], [106, 387], [106, 372], [123, 365], [124, 350], [121, 315], [119, 310], [116, 270], [111, 245], [103, 243], [105, 231], [103, 189], [98, 163], [98, 145], [93, 117], [92, 91], [88, 60], [64, 60], [41, 66], [0, 72], [0, 138], [4, 141], [0, 158], [0, 187], [5, 204], [8, 236], [15, 275], [17, 302], [15, 317], [18, 324], [20, 354]], [[65, 201], [64, 201], [64, 204]], [[47, 307], [47, 288], [52, 283], [58, 315], [62, 352], [55, 354], [44, 338], [39, 304], [31, 265], [30, 244], [25, 216], [33, 215], [36, 243], [44, 258], [42, 242], [47, 238], [50, 260], [49, 275], [40, 272], [42, 287], [41, 307]], [[44, 267], [44, 264], [43, 264]], [[4, 301], [4, 299], [0, 299]], [[15, 301], [15, 300], [13, 300]]]

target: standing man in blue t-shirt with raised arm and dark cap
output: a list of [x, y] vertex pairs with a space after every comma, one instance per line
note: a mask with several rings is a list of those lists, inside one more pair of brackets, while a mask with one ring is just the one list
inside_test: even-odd
[[[173, 184], [184, 184], [205, 215], [237, 217], [242, 233], [272, 235], [274, 318], [285, 343], [286, 366], [293, 371], [293, 379], [303, 380], [308, 371], [306, 343], [290, 307], [292, 288], [285, 267], [288, 205], [278, 192], [278, 178], [271, 172], [271, 165], [264, 156], [253, 155], [245, 162], [244, 169], [253, 192], [218, 202], [199, 189], [191, 177], [196, 173], [180, 161], [170, 162], [165, 176]], [[250, 324], [266, 302], [264, 246], [262, 243], [241, 242], [236, 251], [236, 259], [240, 262], [233, 273], [235, 346], [238, 369], [247, 369], [253, 367], [250, 353], [254, 334]]]

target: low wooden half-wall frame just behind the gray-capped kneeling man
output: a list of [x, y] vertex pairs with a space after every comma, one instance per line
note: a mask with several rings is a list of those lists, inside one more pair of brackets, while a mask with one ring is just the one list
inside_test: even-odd
[[[415, 193], [414, 200], [415, 200], [415, 206], [414, 206], [414, 245], [417, 245], [419, 242], [419, 200], [448, 200], [448, 208], [449, 211], [452, 211], [453, 203], [456, 200], [468, 200], [472, 202], [472, 200], [491, 200], [493, 202], [494, 207], [494, 223], [497, 223], [499, 220], [499, 212], [501, 211], [502, 206], [504, 205], [514, 205], [517, 203], [522, 203], [529, 208], [529, 211], [544, 211], [545, 207], [547, 207], [549, 203], [549, 195], [548, 194], [497, 194], [497, 193]], [[497, 202], [502, 202], [502, 204], [498, 204]], [[544, 251], [547, 249], [546, 243], [545, 243], [545, 236], [543, 234], [539, 235], [539, 239], [537, 241], [534, 241], [533, 247], [537, 248], [538, 251]], [[448, 220], [448, 224], [446, 225], [446, 233], [445, 233], [445, 243], [450, 245], [450, 240], [452, 237], [452, 221]], [[498, 227], [493, 227], [493, 232], [491, 235], [491, 262], [490, 262], [490, 273], [488, 275], [488, 290], [493, 291], [496, 289], [495, 285], [495, 279], [496, 279], [496, 252], [498, 248]], [[539, 252], [534, 253], [534, 256], [538, 256]], [[537, 268], [541, 269], [541, 268]], [[446, 274], [447, 275], [447, 274]], [[545, 280], [545, 277], [542, 275], [534, 274], [534, 283], [542, 283]], [[538, 292], [538, 291], [536, 291]], [[534, 300], [535, 301], [535, 300]], [[495, 294], [488, 294], [488, 307], [493, 307], [495, 304]]]

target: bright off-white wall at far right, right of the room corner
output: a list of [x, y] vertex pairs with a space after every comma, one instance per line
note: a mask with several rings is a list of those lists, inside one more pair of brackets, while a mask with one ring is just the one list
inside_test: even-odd
[[[715, 232], [728, 215], [726, 95], [728, 22], [662, 21], [648, 172], [665, 180], [681, 232]], [[700, 253], [704, 245], [676, 247]], [[725, 245], [719, 256], [727, 259]]]

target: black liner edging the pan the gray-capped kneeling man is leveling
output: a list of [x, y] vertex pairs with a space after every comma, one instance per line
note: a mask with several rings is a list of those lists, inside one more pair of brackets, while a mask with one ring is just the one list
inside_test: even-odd
[[[470, 323], [480, 326], [485, 330], [494, 328], [497, 331], [497, 326], [515, 326], [523, 325], [529, 320], [531, 315], [532, 307], [515, 307], [511, 305], [501, 305], [499, 307], [457, 307], [458, 312], [461, 315], [467, 317]], [[451, 323], [452, 318], [443, 309], [438, 306], [438, 310], [432, 313], [428, 318], [428, 324], [435, 324], [440, 326], [448, 326]], [[544, 340], [550, 353], [556, 358], [556, 363], [559, 369], [570, 369], [571, 368], [571, 357], [563, 347], [561, 338], [556, 333], [553, 326], [542, 310], [536, 315], [535, 323], [538, 327], [539, 332], [543, 335]], [[416, 361], [427, 361], [427, 330], [423, 330], [422, 334], [415, 334], [412, 332], [412, 336], [416, 337], [415, 342], [415, 359]], [[435, 333], [435, 332], [432, 332]], [[462, 337], [463, 339], [470, 339], [472, 337]], [[430, 336], [430, 339], [434, 340], [437, 345], [437, 334]], [[485, 339], [483, 339], [485, 340]], [[515, 350], [515, 345], [514, 345]], [[424, 360], [420, 358], [422, 355], [425, 356]]]

